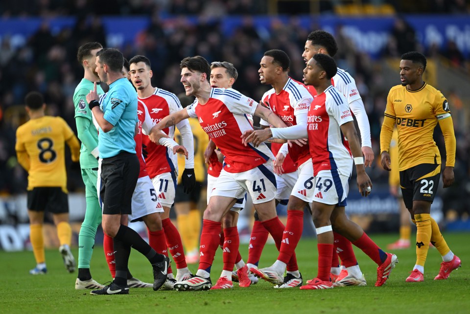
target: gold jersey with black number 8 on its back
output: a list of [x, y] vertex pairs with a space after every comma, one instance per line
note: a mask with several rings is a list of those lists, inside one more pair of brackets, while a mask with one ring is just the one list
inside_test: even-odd
[[61, 117], [31, 119], [18, 128], [15, 149], [20, 164], [28, 171], [28, 190], [60, 186], [67, 192], [65, 142], [70, 146], [72, 160], [78, 162], [80, 144]]

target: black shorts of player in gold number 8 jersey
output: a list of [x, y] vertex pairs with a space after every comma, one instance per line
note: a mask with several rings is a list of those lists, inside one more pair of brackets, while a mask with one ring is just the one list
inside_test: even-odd
[[67, 193], [58, 186], [35, 187], [27, 193], [28, 209], [33, 211], [48, 211], [52, 214], [69, 212]]

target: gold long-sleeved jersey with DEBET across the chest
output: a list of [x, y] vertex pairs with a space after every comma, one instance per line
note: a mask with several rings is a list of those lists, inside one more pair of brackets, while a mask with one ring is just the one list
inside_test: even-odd
[[[421, 89], [413, 91], [407, 90], [405, 86], [395, 86], [387, 97], [385, 118], [380, 135], [380, 151], [389, 149], [390, 141], [385, 140], [386, 136], [382, 138], [384, 127], [387, 130], [390, 129], [388, 131], [391, 135], [393, 123], [396, 122], [400, 171], [423, 163], [440, 164], [441, 155], [432, 135], [437, 122], [449, 117], [450, 109], [446, 97], [429, 84], [424, 83]], [[444, 134], [445, 131], [447, 130], [443, 129]], [[454, 136], [453, 129], [452, 136]], [[455, 159], [455, 148], [453, 159]], [[450, 160], [447, 165], [450, 165], [449, 163]], [[451, 163], [453, 166], [453, 161]]]

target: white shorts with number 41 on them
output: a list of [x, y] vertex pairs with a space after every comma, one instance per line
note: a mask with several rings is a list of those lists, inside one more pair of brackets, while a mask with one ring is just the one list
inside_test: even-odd
[[223, 169], [217, 178], [215, 189], [212, 190], [212, 196], [241, 199], [248, 192], [253, 204], [274, 200], [277, 189], [272, 162], [269, 159], [256, 168], [240, 173], [231, 173]]

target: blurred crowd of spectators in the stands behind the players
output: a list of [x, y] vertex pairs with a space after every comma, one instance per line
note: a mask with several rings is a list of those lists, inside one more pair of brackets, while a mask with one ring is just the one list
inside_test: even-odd
[[[31, 3], [32, 2], [32, 3]], [[335, 2], [335, 1], [332, 1]], [[339, 1], [340, 2], [340, 1]], [[382, 1], [370, 1], [382, 2]], [[400, 2], [400, 1], [387, 1]], [[417, 1], [420, 2], [420, 1]], [[444, 1], [431, 1], [437, 7]], [[466, 1], [447, 1], [447, 8]], [[452, 4], [452, 5], [450, 5]], [[434, 7], [431, 5], [430, 7]], [[162, 19], [162, 12], [175, 15], [172, 19]], [[94, 14], [91, 15], [90, 13]], [[4, 37], [0, 45], [0, 193], [22, 193], [26, 186], [26, 174], [16, 162], [15, 131], [24, 119], [24, 95], [30, 90], [41, 91], [45, 95], [48, 113], [60, 115], [66, 119], [72, 129], [75, 129], [73, 118], [74, 108], [72, 94], [83, 77], [83, 68], [76, 60], [76, 52], [80, 45], [97, 41], [106, 46], [105, 28], [100, 15], [142, 15], [148, 16], [153, 12], [151, 23], [143, 29], [135, 43], [120, 47], [128, 59], [136, 54], [147, 56], [152, 63], [154, 76], [153, 86], [181, 94], [184, 89], [180, 80], [180, 61], [187, 56], [201, 55], [209, 62], [229, 61], [238, 70], [238, 80], [234, 88], [254, 98], [260, 99], [270, 86], [259, 83], [259, 61], [268, 49], [282, 49], [291, 58], [290, 76], [296, 80], [302, 79], [305, 63], [302, 58], [305, 40], [311, 29], [300, 26], [297, 19], [292, 17], [289, 22], [273, 19], [269, 29], [259, 29], [254, 26], [253, 14], [266, 12], [265, 1], [250, 0], [38, 0], [38, 1], [2, 1], [0, 17], [3, 16], [58, 16], [74, 15], [76, 24], [64, 28], [57, 34], [52, 34], [47, 22], [29, 38], [26, 45], [14, 48], [8, 37]], [[462, 11], [460, 11], [462, 12]], [[218, 19], [226, 14], [243, 14], [241, 26], [231, 35], [224, 34]], [[197, 23], [188, 22], [186, 15], [199, 15]], [[372, 132], [373, 149], [376, 154], [374, 168], [370, 171], [371, 179], [377, 183], [386, 184], [388, 174], [380, 166], [379, 135], [381, 118], [386, 104], [386, 96], [390, 85], [380, 70], [383, 60], [373, 61], [362, 52], [357, 51], [352, 42], [339, 27], [335, 30], [335, 38], [339, 51], [335, 56], [338, 67], [348, 69], [356, 81], [369, 116]], [[404, 21], [397, 18], [393, 29], [390, 30], [390, 40], [383, 57], [399, 58], [410, 50], [422, 51], [416, 45], [414, 30]], [[468, 64], [455, 43], [449, 42], [445, 50], [422, 51], [432, 57], [444, 57], [450, 66], [462, 67]], [[397, 84], [398, 81], [398, 71]], [[455, 90], [442, 90], [457, 112], [464, 110], [464, 102]], [[468, 105], [467, 105], [468, 106]], [[455, 132], [457, 136], [456, 185], [453, 194], [462, 195], [459, 185], [469, 187], [469, 158], [470, 134], [465, 130], [467, 122], [465, 115], [454, 115]], [[464, 121], [458, 121], [464, 119]], [[454, 120], [454, 121], [455, 121]], [[438, 129], [438, 128], [437, 128]], [[436, 131], [437, 142], [444, 154], [442, 134]], [[77, 165], [69, 165], [69, 188], [71, 191], [83, 188]], [[464, 191], [465, 192], [465, 191]], [[449, 192], [450, 194], [450, 192]], [[454, 195], [450, 200], [455, 199]], [[464, 193], [465, 195], [465, 193]], [[445, 194], [443, 195], [445, 197]], [[465, 204], [464, 204], [465, 205]], [[455, 206], [461, 206], [459, 204]], [[467, 210], [462, 208], [463, 211]]]

